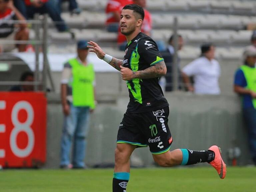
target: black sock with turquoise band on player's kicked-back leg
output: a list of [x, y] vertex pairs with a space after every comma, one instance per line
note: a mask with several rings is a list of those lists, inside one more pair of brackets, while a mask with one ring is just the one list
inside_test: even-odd
[[207, 151], [194, 151], [190, 149], [181, 149], [183, 159], [181, 165], [192, 165], [197, 163], [207, 162], [210, 163], [214, 160], [214, 152], [211, 150]]

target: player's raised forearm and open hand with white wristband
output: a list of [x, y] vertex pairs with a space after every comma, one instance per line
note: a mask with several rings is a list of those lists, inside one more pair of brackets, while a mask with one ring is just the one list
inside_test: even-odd
[[112, 67], [114, 67], [115, 69], [117, 69], [118, 71], [121, 70], [120, 66], [123, 65], [123, 60], [121, 59], [116, 59], [114, 57], [111, 57], [110, 55], [107, 55], [106, 53], [104, 53], [104, 51], [101, 49], [101, 47], [93, 42], [93, 41], [89, 41], [88, 44], [90, 46], [87, 46], [88, 48], [90, 48], [91, 50], [89, 50], [90, 52], [94, 52], [96, 53], [96, 55], [100, 58], [103, 59], [104, 61], [106, 61], [109, 65], [111, 65]]

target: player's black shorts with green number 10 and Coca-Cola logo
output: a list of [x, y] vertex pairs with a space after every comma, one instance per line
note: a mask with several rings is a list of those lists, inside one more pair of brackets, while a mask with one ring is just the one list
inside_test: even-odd
[[169, 106], [143, 113], [126, 111], [119, 126], [117, 143], [149, 146], [152, 154], [169, 151], [172, 137], [168, 127], [168, 115]]

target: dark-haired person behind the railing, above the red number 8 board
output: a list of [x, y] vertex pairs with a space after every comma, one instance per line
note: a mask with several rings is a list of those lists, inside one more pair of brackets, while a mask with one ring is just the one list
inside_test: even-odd
[[[23, 83], [34, 82], [34, 73], [31, 71], [26, 71], [21, 74], [20, 81]], [[10, 91], [34, 91], [34, 85], [15, 85], [11, 87]]]

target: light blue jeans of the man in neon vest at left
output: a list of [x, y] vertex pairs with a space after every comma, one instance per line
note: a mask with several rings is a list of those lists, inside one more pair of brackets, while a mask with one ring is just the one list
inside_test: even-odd
[[75, 107], [70, 104], [70, 114], [64, 117], [60, 165], [65, 166], [70, 164], [70, 148], [74, 139], [72, 154], [73, 167], [82, 168], [85, 166], [84, 158], [89, 131], [89, 119], [89, 107]]

